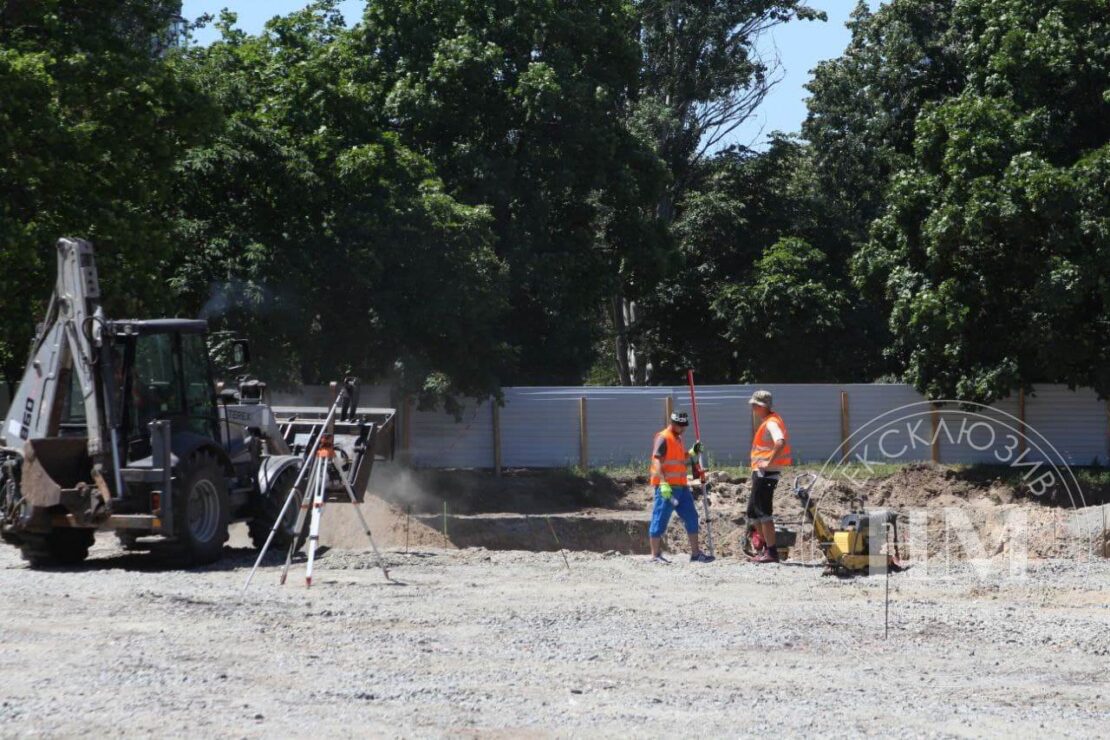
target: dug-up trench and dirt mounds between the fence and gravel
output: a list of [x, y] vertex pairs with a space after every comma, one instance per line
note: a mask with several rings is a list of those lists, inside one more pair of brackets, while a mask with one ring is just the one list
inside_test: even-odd
[[[1076, 510], [1046, 505], [1022, 498], [1020, 491], [998, 480], [978, 480], [934, 466], [908, 467], [867, 481], [865, 489], [869, 506], [904, 513], [899, 531], [902, 548], [918, 557], [925, 553], [953, 559], [1110, 555], [1104, 524], [1110, 511], [1104, 507]], [[717, 554], [731, 557], [738, 554], [746, 529], [747, 483], [718, 476], [713, 490]], [[637, 477], [579, 477], [562, 472], [514, 472], [495, 477], [473, 470], [383, 467], [375, 472], [372, 493], [363, 511], [383, 547], [648, 551], [650, 491], [646, 480]], [[829, 520], [836, 520], [858, 494], [829, 484], [820, 491], [819, 508]], [[776, 513], [780, 525], [798, 534], [795, 557], [819, 558], [811, 527], [803, 525], [800, 506], [785, 485], [776, 494]], [[910, 517], [916, 517], [912, 527]], [[973, 538], [961, 535], [960, 527], [970, 527]], [[357, 518], [344, 505], [325, 510], [321, 541], [341, 548], [366, 546]], [[665, 541], [670, 551], [688, 549], [677, 517], [672, 519]]]

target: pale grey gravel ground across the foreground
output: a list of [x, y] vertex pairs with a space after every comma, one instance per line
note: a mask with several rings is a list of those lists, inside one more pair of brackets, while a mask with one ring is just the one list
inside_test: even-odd
[[327, 551], [315, 585], [232, 549], [161, 569], [101, 537], [0, 549], [0, 734], [1106, 736], [1110, 562], [1023, 580], [821, 577], [557, 553]]

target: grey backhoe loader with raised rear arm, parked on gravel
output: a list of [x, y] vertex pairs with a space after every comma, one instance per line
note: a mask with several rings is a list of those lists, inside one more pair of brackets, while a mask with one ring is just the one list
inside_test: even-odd
[[[56, 249], [54, 292], [0, 428], [0, 538], [32, 566], [80, 562], [97, 530], [124, 547], [159, 536], [189, 564], [219, 559], [232, 521], [261, 546], [327, 409], [272, 408], [248, 376], [218, 391], [206, 322], [109, 320], [92, 245]], [[245, 366], [245, 342], [233, 348]], [[352, 407], [336, 424], [360, 500], [374, 459], [392, 455], [393, 416]]]

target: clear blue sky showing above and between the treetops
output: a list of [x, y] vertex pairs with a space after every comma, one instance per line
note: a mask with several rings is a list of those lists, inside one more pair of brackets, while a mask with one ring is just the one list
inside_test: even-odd
[[[868, 0], [874, 10], [879, 0]], [[302, 8], [305, 0], [184, 0], [183, 14], [195, 18], [202, 13], [218, 13], [228, 8], [239, 14], [239, 26], [249, 33], [256, 33], [274, 16]], [[349, 23], [362, 17], [364, 0], [344, 0], [340, 3]], [[849, 33], [845, 28], [856, 0], [810, 0], [809, 4], [828, 14], [828, 21], [796, 22], [779, 27], [764, 39], [764, 51], [777, 50], [783, 65], [783, 80], [764, 101], [756, 115], [733, 134], [733, 143], [759, 146], [771, 131], [797, 131], [806, 118], [806, 90], [809, 71], [823, 59], [839, 57], [848, 45]], [[215, 37], [211, 29], [198, 36], [206, 43]]]

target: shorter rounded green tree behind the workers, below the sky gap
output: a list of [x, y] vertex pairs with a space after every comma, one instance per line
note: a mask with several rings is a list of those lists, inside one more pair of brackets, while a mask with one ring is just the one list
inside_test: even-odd
[[813, 166], [810, 148], [777, 135], [765, 152], [728, 150], [700, 168], [675, 224], [683, 267], [645, 301], [652, 332], [667, 337], [655, 354], [662, 377], [677, 382], [687, 367], [716, 383], [881, 372], [881, 323], [851, 295], [847, 264], [828, 257], [836, 233]]

